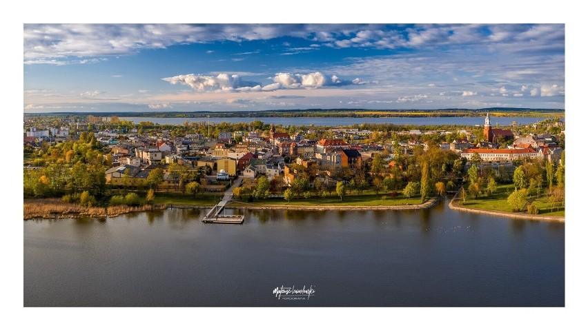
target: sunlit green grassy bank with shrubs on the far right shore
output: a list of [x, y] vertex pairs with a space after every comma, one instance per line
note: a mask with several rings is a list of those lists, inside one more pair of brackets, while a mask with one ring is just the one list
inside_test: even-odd
[[[542, 189], [542, 192], [545, 192], [546, 189]], [[471, 209], [485, 209], [489, 211], [498, 211], [498, 212], [511, 212], [511, 213], [525, 213], [525, 212], [512, 212], [512, 208], [507, 203], [507, 199], [509, 198], [509, 194], [514, 191], [514, 185], [499, 185], [497, 191], [492, 196], [480, 196], [476, 199], [473, 197], [467, 197], [465, 203], [462, 202], [461, 198], [459, 199], [458, 205], [463, 207], [469, 207]], [[531, 198], [531, 196], [529, 196]], [[551, 203], [549, 202], [549, 197], [547, 196], [540, 196], [539, 199], [536, 200], [536, 205], [539, 208], [539, 215], [541, 216], [565, 216], [565, 209], [560, 207], [559, 211], [556, 208], [553, 208], [551, 211]]]

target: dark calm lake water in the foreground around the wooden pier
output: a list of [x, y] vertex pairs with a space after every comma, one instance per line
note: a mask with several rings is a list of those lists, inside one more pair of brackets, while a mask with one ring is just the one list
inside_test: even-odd
[[[564, 306], [565, 224], [455, 212], [205, 210], [24, 221], [25, 306]], [[312, 285], [305, 300], [276, 287]]]

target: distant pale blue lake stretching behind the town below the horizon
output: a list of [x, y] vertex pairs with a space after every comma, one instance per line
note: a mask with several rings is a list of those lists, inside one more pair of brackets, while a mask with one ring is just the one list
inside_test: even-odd
[[[182, 125], [186, 121], [193, 123], [207, 122], [208, 118], [155, 118], [155, 117], [119, 117], [121, 120], [133, 121], [139, 123], [141, 121], [150, 121], [152, 123], [159, 123], [161, 125]], [[516, 121], [520, 125], [527, 125], [542, 121], [545, 118], [532, 117], [491, 117], [492, 125], [498, 123], [500, 126], [511, 125]], [[311, 125], [315, 126], [340, 126], [340, 125], [355, 125], [362, 123], [377, 123], [377, 124], [394, 124], [394, 125], [484, 125], [483, 117], [394, 117], [394, 118], [351, 118], [351, 117], [297, 117], [297, 118], [282, 118], [282, 117], [227, 117], [227, 118], [210, 118], [210, 123], [251, 123], [252, 121], [263, 121], [266, 124], [282, 124], [282, 125]], [[560, 119], [564, 121], [564, 119]]]

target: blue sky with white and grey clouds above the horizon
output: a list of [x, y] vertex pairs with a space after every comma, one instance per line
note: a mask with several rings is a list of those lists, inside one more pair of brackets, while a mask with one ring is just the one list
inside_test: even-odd
[[565, 107], [563, 24], [25, 24], [24, 112]]

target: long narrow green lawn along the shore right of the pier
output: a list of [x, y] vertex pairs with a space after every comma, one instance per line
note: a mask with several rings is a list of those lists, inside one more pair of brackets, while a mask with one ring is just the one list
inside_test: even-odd
[[354, 196], [344, 196], [343, 200], [339, 196], [330, 196], [320, 198], [313, 196], [311, 198], [293, 198], [288, 203], [284, 198], [268, 198], [255, 199], [251, 205], [271, 206], [271, 205], [289, 205], [289, 206], [397, 206], [397, 205], [418, 205], [420, 204], [420, 197], [404, 198], [403, 196], [391, 197], [386, 196], [382, 200], [382, 194], [375, 196], [375, 194], [364, 194]]

